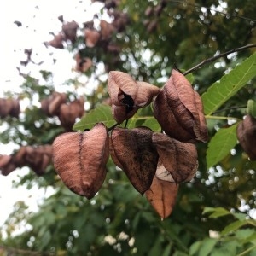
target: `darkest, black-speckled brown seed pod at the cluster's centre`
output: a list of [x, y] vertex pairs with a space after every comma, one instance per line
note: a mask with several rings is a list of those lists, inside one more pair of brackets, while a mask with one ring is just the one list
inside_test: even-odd
[[152, 133], [147, 127], [130, 130], [116, 128], [111, 135], [113, 162], [123, 169], [131, 184], [142, 195], [152, 183], [158, 160]]

